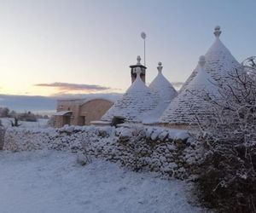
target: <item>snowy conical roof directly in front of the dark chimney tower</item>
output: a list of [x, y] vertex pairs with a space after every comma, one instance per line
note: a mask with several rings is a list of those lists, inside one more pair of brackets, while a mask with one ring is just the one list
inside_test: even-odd
[[111, 122], [113, 117], [123, 117], [127, 122], [142, 122], [148, 112], [159, 103], [159, 95], [152, 92], [140, 78], [141, 68], [137, 67], [137, 78], [125, 94], [113, 104], [102, 117], [102, 121]]

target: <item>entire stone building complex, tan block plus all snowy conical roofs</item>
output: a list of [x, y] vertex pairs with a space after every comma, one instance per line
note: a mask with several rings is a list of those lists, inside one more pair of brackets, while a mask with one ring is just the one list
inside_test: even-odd
[[147, 86], [147, 67], [137, 64], [131, 67], [131, 86], [118, 101], [103, 99], [86, 101], [59, 101], [55, 115], [55, 126], [63, 124], [116, 124], [142, 123], [161, 124], [174, 128], [188, 128], [195, 124], [198, 116], [211, 116], [209, 106], [202, 98], [207, 93], [218, 97], [217, 84], [228, 80], [229, 74], [241, 64], [231, 55], [230, 50], [219, 39], [221, 31], [216, 26], [215, 41], [206, 55], [200, 57], [182, 89], [177, 91], [162, 74], [159, 63], [158, 75]]

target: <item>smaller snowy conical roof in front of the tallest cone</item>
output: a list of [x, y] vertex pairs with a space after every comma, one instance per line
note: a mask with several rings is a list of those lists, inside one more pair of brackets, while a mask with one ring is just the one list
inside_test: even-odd
[[218, 86], [212, 76], [206, 71], [206, 58], [201, 56], [197, 74], [186, 89], [174, 98], [160, 118], [160, 123], [194, 124], [195, 113], [198, 118], [210, 113], [209, 103], [204, 101], [207, 94], [218, 95]]

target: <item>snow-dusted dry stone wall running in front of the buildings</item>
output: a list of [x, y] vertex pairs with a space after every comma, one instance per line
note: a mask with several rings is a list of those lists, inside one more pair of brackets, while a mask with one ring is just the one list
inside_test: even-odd
[[9, 128], [5, 150], [71, 150], [122, 164], [132, 170], [154, 171], [166, 178], [196, 174], [203, 153], [184, 130], [152, 126], [64, 127], [61, 129]]

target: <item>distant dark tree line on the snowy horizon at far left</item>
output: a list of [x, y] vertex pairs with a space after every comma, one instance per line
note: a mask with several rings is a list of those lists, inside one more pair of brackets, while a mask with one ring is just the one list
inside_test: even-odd
[[0, 118], [16, 118], [20, 121], [36, 122], [38, 121], [38, 118], [49, 118], [49, 116], [35, 114], [30, 111], [20, 113], [15, 112], [14, 110], [10, 111], [8, 107], [0, 107]]

